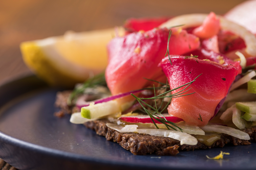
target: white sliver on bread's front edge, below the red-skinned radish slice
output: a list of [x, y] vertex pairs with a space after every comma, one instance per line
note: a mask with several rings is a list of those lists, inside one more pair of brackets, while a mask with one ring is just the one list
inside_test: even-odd
[[176, 130], [165, 130], [165, 129], [137, 129], [138, 133], [149, 134], [152, 136], [170, 137], [180, 141], [180, 145], [196, 145], [197, 139], [192, 135]]

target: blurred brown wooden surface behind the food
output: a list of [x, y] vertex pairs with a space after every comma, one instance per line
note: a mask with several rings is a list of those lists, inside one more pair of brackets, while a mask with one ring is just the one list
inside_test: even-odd
[[123, 25], [127, 18], [225, 14], [244, 0], [0, 0], [0, 82], [31, 72], [20, 43]]

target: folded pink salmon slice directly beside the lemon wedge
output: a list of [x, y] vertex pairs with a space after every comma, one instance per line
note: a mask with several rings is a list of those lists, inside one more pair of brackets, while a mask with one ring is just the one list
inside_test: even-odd
[[[109, 42], [105, 77], [113, 95], [143, 88], [148, 83], [143, 77], [156, 79], [164, 76], [157, 65], [165, 56], [168, 35], [169, 30], [166, 28], [153, 29], [130, 33]], [[169, 43], [170, 54], [182, 55], [199, 46], [200, 41], [195, 35], [173, 29]]]

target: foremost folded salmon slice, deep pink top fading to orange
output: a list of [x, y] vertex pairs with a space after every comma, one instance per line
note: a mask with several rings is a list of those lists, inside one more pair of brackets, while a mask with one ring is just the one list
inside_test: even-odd
[[[191, 89], [182, 95], [195, 93], [173, 98], [168, 107], [168, 113], [183, 119], [188, 125], [206, 125], [214, 115], [220, 100], [227, 95], [236, 75], [241, 73], [241, 66], [238, 62], [224, 66], [209, 60], [186, 58], [179, 55], [172, 55], [171, 61], [172, 65], [169, 58], [165, 57], [159, 64], [168, 78], [171, 89], [193, 81], [198, 75], [202, 75], [187, 88], [187, 90]], [[182, 89], [184, 87], [173, 91], [173, 93]]]

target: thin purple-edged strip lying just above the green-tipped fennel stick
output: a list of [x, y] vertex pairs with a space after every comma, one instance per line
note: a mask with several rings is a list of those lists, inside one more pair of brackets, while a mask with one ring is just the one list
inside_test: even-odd
[[122, 97], [125, 97], [125, 96], [129, 96], [129, 95], [131, 95], [131, 93], [138, 93], [138, 92], [142, 92], [142, 91], [143, 90], [133, 90], [133, 91], [130, 91], [130, 92], [116, 94], [116, 95], [113, 95], [113, 96], [109, 96], [109, 97], [94, 100], [94, 101], [84, 101], [83, 98], [81, 97], [80, 100], [78, 100], [76, 102], [76, 107], [81, 109], [82, 107], [89, 106], [91, 102], [94, 102], [94, 104], [98, 104], [98, 103], [107, 102], [107, 101], [110, 101], [110, 100], [115, 100], [115, 99], [118, 99], [118, 98], [122, 98]]

